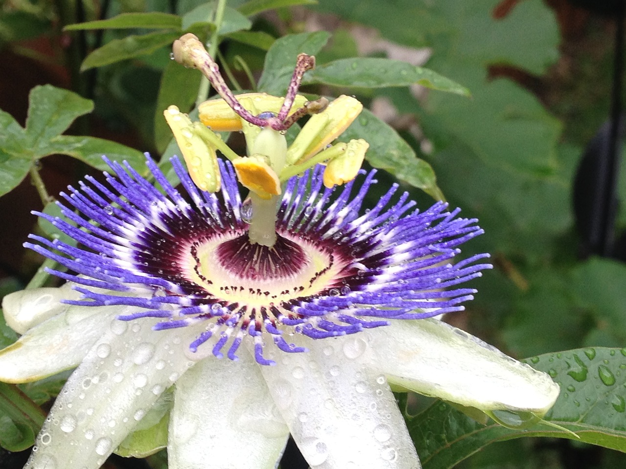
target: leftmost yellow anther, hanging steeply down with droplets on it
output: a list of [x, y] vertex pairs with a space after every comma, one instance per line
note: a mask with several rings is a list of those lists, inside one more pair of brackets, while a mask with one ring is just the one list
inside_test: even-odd
[[215, 147], [200, 138], [195, 124], [176, 106], [167, 108], [163, 115], [185, 158], [193, 182], [203, 191], [218, 191], [222, 182]]

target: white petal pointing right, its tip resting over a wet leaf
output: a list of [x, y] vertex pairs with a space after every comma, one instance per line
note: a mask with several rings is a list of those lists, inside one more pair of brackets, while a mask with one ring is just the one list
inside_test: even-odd
[[364, 338], [372, 366], [389, 382], [421, 394], [483, 411], [543, 415], [559, 393], [546, 373], [440, 321], [392, 321]]

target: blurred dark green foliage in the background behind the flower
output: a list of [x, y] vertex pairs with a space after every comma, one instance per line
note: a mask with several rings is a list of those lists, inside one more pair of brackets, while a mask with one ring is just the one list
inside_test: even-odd
[[[294, 3], [299, 6], [264, 11], [265, 4]], [[621, 348], [626, 346], [626, 171], [617, 180], [610, 253], [595, 256], [588, 249], [581, 235], [587, 219], [576, 217], [574, 205], [585, 148], [612, 111], [613, 36], [620, 4], [602, 3], [603, 11], [593, 11], [581, 0], [233, 0], [225, 18], [230, 30], [220, 31], [218, 59], [242, 88], [250, 89], [275, 39], [325, 30], [332, 36], [327, 43], [316, 36], [323, 46], [316, 54], [318, 64], [354, 56], [401, 59], [469, 89], [467, 98], [418, 85], [329, 86], [322, 76], [305, 81], [311, 84], [304, 91], [355, 94], [398, 131], [408, 151], [434, 169], [434, 187], [465, 216], [480, 219], [486, 235], [466, 246], [464, 254], [488, 251], [496, 268], [476, 281], [480, 293], [468, 311], [450, 315], [449, 321], [517, 358], [586, 346]], [[173, 68], [170, 44], [188, 28], [208, 38], [210, 8], [202, 0], [5, 0], [0, 7], [0, 109], [24, 126], [29, 90], [53, 84], [95, 104], [67, 134], [109, 139], [150, 151], [157, 159], [172, 153], [162, 109], [172, 100], [190, 109], [200, 76]], [[140, 12], [179, 19], [167, 23], [172, 18], [164, 17], [169, 26], [161, 29], [64, 31], [69, 24]], [[108, 55], [90, 56], [102, 46], [110, 48]], [[127, 58], [110, 61], [115, 54]], [[384, 81], [386, 69], [373, 72]], [[370, 163], [385, 166], [383, 158], [372, 154]], [[429, 166], [418, 168], [418, 160], [411, 158], [394, 160], [391, 174], [381, 173], [379, 179], [395, 176], [420, 206], [429, 206], [431, 196], [414, 187], [419, 184], [411, 173], [426, 174]], [[88, 158], [50, 156], [37, 173], [48, 193], [56, 194], [93, 172], [89, 166]], [[578, 180], [590, 174], [582, 171]], [[576, 187], [577, 201], [592, 197], [589, 185]], [[21, 248], [36, 229], [29, 210], [41, 208], [29, 178], [0, 198], [5, 220], [0, 224], [0, 293], [23, 288], [41, 264]], [[36, 392], [46, 397], [49, 389], [49, 394], [58, 392], [56, 383]], [[626, 414], [620, 418], [615, 428], [626, 430]], [[21, 456], [2, 457], [9, 465], [9, 458]], [[110, 463], [131, 467], [119, 460]], [[148, 463], [157, 468], [163, 460], [152, 456]], [[620, 463], [626, 456], [598, 446], [521, 438], [487, 446], [459, 467], [613, 468]]]

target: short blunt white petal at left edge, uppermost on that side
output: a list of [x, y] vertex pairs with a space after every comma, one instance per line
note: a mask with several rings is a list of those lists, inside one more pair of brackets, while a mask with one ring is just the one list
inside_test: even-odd
[[33, 288], [9, 293], [2, 300], [4, 319], [8, 326], [19, 334], [42, 323], [54, 315], [63, 313], [69, 305], [61, 300], [76, 300], [81, 294], [72, 290], [72, 283], [60, 288]]

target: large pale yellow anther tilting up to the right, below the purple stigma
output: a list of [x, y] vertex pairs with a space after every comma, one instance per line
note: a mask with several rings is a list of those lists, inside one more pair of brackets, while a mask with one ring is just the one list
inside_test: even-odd
[[311, 116], [287, 150], [287, 163], [300, 164], [319, 153], [357, 118], [363, 105], [342, 94], [319, 114]]

